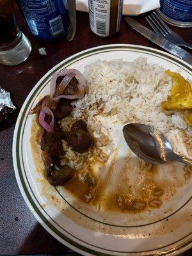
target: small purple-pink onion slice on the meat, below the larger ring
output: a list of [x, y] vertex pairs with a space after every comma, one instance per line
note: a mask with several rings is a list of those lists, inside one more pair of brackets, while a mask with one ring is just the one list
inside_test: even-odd
[[[48, 124], [45, 121], [45, 115], [51, 116], [51, 122]], [[44, 102], [42, 104], [42, 109], [40, 110], [39, 116], [38, 116], [38, 122], [47, 132], [53, 132], [54, 131], [54, 115], [47, 106], [45, 106]]]

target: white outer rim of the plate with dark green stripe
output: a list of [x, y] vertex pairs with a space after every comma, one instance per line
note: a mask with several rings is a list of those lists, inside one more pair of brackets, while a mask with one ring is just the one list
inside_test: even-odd
[[[183, 61], [183, 60], [180, 60], [179, 58], [173, 56], [172, 54], [168, 54], [167, 52], [164, 52], [164, 51], [161, 51], [161, 50], [157, 50], [157, 49], [154, 49], [154, 48], [151, 48], [151, 47], [145, 47], [143, 45], [132, 45], [132, 44], [109, 44], [109, 45], [100, 45], [100, 46], [97, 46], [97, 47], [92, 47], [92, 48], [89, 48], [89, 49], [86, 49], [84, 51], [81, 51], [81, 52], [77, 52], [76, 54], [73, 54], [72, 56], [64, 59], [63, 61], [60, 61], [60, 63], [58, 63], [57, 65], [55, 65], [54, 67], [51, 68], [51, 70], [49, 70], [39, 81], [38, 83], [35, 84], [34, 88], [31, 90], [31, 92], [29, 92], [29, 95], [28, 97], [26, 98], [26, 100], [24, 101], [24, 104], [22, 105], [22, 108], [20, 109], [20, 113], [19, 113], [19, 116], [17, 118], [17, 122], [16, 122], [16, 125], [15, 125], [15, 130], [14, 130], [14, 134], [13, 134], [13, 167], [14, 167], [14, 171], [15, 171], [15, 177], [17, 179], [17, 184], [19, 185], [19, 189], [20, 189], [20, 192], [22, 193], [22, 196], [26, 202], [26, 204], [28, 205], [29, 209], [31, 210], [31, 212], [33, 213], [33, 215], [35, 216], [36, 220], [38, 220], [38, 222], [45, 228], [45, 230], [47, 230], [49, 232], [49, 234], [51, 234], [52, 236], [54, 236], [56, 239], [58, 239], [58, 241], [60, 241], [62, 244], [65, 244], [66, 246], [68, 246], [69, 248], [72, 248], [73, 250], [75, 250], [76, 252], [79, 252], [79, 253], [89, 253], [89, 255], [100, 255], [100, 252], [98, 251], [95, 251], [95, 250], [92, 250], [90, 248], [86, 248], [84, 247], [82, 244], [78, 244], [76, 243], [76, 241], [73, 241], [70, 239], [70, 237], [66, 237], [65, 234], [62, 234], [63, 236], [65, 236], [65, 240], [63, 238], [61, 238], [60, 236], [58, 236], [58, 234], [56, 234], [47, 224], [47, 220], [45, 218], [45, 216], [42, 214], [42, 212], [40, 212], [40, 214], [38, 214], [36, 212], [36, 210], [34, 209], [33, 205], [31, 204], [29, 198], [28, 198], [28, 195], [26, 195], [26, 191], [23, 187], [23, 184], [22, 184], [22, 181], [20, 179], [20, 175], [19, 175], [19, 168], [18, 168], [18, 163], [17, 163], [17, 136], [18, 136], [18, 131], [19, 131], [19, 125], [20, 125], [20, 118], [22, 116], [22, 113], [24, 111], [24, 109], [26, 108], [26, 105], [28, 104], [28, 101], [29, 99], [32, 97], [33, 93], [35, 93], [35, 91], [38, 89], [38, 87], [40, 86], [40, 84], [44, 83], [45, 80], [47, 80], [47, 77], [50, 76], [50, 74], [52, 74], [52, 72], [56, 72], [56, 70], [61, 67], [61, 65], [65, 65], [67, 64], [68, 62], [72, 62], [72, 60], [75, 60], [77, 57], [80, 57], [80, 56], [83, 56], [83, 55], [86, 55], [86, 53], [88, 52], [96, 52], [97, 53], [100, 53], [99, 51], [100, 50], [106, 50], [106, 49], [117, 49], [117, 50], [121, 50], [121, 49], [137, 49], [137, 50], [144, 50], [145, 53], [148, 54], [148, 52], [153, 52], [154, 54], [152, 55], [156, 55], [157, 57], [159, 58], [163, 58], [162, 56], [165, 56], [166, 57], [166, 60], [167, 58], [169, 58], [168, 61], [172, 62], [173, 64], [176, 64], [178, 65], [178, 63], [180, 64], [179, 67], [181, 66], [182, 68], [185, 67], [187, 68], [187, 72], [188, 70], [190, 70], [190, 72], [192, 71], [192, 67], [191, 65], [189, 65], [188, 63], [186, 63], [186, 61]], [[101, 51], [101, 52], [105, 52], [105, 51]], [[93, 55], [93, 54], [91, 54]], [[172, 60], [172, 61], [171, 61]], [[70, 63], [72, 64], [72, 63]], [[23, 120], [22, 120], [23, 122]], [[22, 125], [21, 125], [21, 128], [22, 128]], [[26, 185], [26, 184], [25, 184]], [[28, 188], [26, 188], [28, 190]], [[30, 191], [28, 191], [29, 195], [31, 194]], [[33, 198], [32, 198], [32, 201], [33, 201]], [[33, 201], [33, 204], [35, 204], [36, 206], [36, 209], [38, 209], [38, 206], [36, 205], [36, 203]], [[38, 209], [38, 211], [40, 211]], [[42, 220], [42, 218], [40, 217], [41, 215], [43, 215], [43, 217], [45, 218], [45, 221]], [[49, 222], [49, 221], [48, 221]], [[51, 223], [49, 223], [51, 224]], [[52, 224], [51, 224], [52, 226]], [[53, 227], [53, 229], [55, 229]], [[59, 230], [58, 230], [59, 231]], [[69, 240], [68, 240], [69, 239]], [[182, 240], [182, 239], [181, 239]], [[70, 242], [68, 242], [70, 241]], [[73, 242], [73, 243], [71, 243]], [[172, 255], [175, 255], [176, 253], [180, 253], [180, 252], [184, 252], [185, 250], [187, 250], [188, 248], [191, 248], [192, 244], [191, 244], [192, 241], [189, 241], [188, 244], [183, 244], [181, 245], [180, 248], [175, 248], [175, 252], [172, 252]], [[75, 243], [75, 245], [74, 245]], [[178, 243], [178, 242], [175, 242], [175, 243]], [[174, 243], [173, 243], [174, 244]], [[168, 247], [169, 245], [167, 246], [164, 246], [164, 248]], [[94, 247], [94, 246], [93, 246]], [[86, 250], [84, 250], [86, 249]], [[106, 249], [102, 249], [102, 250], [106, 250]], [[157, 249], [159, 250], [159, 249]], [[109, 250], [107, 250], [109, 252]], [[147, 252], [147, 251], [145, 251]], [[140, 253], [145, 253], [145, 252], [140, 252]], [[154, 250], [153, 250], [154, 252]], [[91, 254], [90, 254], [91, 253]], [[94, 254], [92, 254], [94, 253]], [[122, 252], [124, 253], [124, 252]], [[163, 252], [161, 252], [163, 253]], [[167, 252], [164, 251], [164, 253], [166, 255]], [[109, 253], [102, 253], [102, 255], [111, 255]], [[134, 252], [131, 252], [131, 253], [127, 253], [127, 255], [136, 255], [136, 253]], [[143, 254], [144, 255], [144, 254]], [[154, 254], [152, 254], [154, 255]]]

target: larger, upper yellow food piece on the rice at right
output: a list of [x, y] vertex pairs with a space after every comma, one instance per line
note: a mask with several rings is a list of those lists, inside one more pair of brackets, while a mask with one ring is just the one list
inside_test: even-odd
[[191, 84], [179, 73], [170, 70], [166, 70], [165, 73], [172, 77], [174, 85], [168, 99], [161, 104], [162, 110], [184, 111], [192, 109]]

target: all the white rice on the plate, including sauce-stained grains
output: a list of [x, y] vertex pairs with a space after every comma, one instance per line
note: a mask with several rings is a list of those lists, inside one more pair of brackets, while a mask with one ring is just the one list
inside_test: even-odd
[[[118, 147], [115, 143], [114, 122], [120, 126], [129, 122], [154, 125], [157, 131], [168, 136], [176, 153], [180, 154], [179, 145], [183, 141], [191, 156], [191, 128], [184, 122], [182, 113], [161, 111], [161, 103], [170, 95], [173, 86], [172, 78], [164, 71], [159, 65], [148, 64], [146, 58], [133, 62], [97, 61], [86, 66], [86, 94], [83, 99], [72, 102], [75, 107], [72, 115], [61, 120], [59, 124], [64, 131], [70, 131], [76, 120], [83, 119], [95, 138], [95, 145], [88, 152], [79, 154], [63, 141], [65, 157], [61, 163], [78, 170], [82, 179], [89, 164], [95, 161], [106, 163]], [[176, 130], [179, 133], [171, 134]], [[136, 164], [140, 170], [152, 169], [152, 164], [141, 159]]]

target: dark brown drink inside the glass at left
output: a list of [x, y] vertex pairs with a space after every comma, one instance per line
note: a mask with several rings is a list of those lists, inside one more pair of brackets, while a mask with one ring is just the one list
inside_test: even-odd
[[13, 42], [17, 36], [17, 25], [13, 14], [6, 16], [0, 13], [0, 46]]

